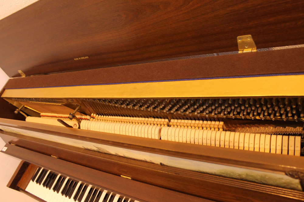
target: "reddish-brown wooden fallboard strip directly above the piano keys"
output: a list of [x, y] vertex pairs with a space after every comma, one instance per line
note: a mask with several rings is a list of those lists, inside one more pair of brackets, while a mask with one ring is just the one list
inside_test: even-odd
[[[5, 153], [58, 173], [140, 201], [203, 201], [202, 198], [155, 187], [7, 144]], [[21, 154], [21, 156], [19, 155]], [[24, 154], [24, 155], [23, 155]]]

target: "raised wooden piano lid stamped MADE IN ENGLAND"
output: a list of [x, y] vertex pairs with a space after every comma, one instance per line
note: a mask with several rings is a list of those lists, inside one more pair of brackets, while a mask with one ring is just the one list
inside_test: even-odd
[[293, 0], [40, 0], [0, 21], [0, 66], [15, 77], [237, 51], [247, 34], [258, 48], [303, 44], [303, 10]]

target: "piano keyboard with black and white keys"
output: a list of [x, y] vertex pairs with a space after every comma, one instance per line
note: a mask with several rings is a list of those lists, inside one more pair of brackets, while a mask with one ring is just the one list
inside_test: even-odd
[[42, 167], [25, 190], [47, 202], [138, 202]]

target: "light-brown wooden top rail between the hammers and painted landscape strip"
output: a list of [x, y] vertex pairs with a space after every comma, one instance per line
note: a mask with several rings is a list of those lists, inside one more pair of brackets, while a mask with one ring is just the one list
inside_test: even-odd
[[[273, 170], [279, 172], [285, 172], [293, 169], [304, 170], [303, 157], [252, 152], [246, 150], [234, 150], [230, 148], [178, 143], [164, 140], [153, 140], [148, 138], [72, 129], [40, 123], [22, 122], [17, 120], [0, 119], [0, 124], [29, 131], [52, 134], [54, 136], [63, 136], [77, 140], [128, 148], [132, 150], [139, 150], [149, 153], [157, 153], [223, 165]], [[19, 139], [19, 137], [23, 139], [27, 138], [26, 136], [14, 133], [3, 133], [4, 134], [0, 133], [0, 136], [6, 143], [9, 143], [10, 141], [16, 141]], [[35, 150], [34, 147], [31, 149]], [[250, 158], [248, 158], [248, 156], [250, 156]]]

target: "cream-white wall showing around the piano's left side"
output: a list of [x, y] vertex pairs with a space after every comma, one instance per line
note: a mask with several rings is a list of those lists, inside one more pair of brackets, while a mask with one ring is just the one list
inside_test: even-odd
[[[36, 1], [38, 0], [0, 0], [0, 20]], [[3, 88], [8, 79], [9, 77], [0, 68], [0, 89]], [[4, 145], [4, 141], [0, 138], [0, 150], [2, 150]], [[21, 160], [17, 158], [0, 153], [0, 201], [2, 202], [36, 201], [35, 199], [27, 196], [26, 194], [6, 187], [16, 168], [18, 167], [20, 161]]]

